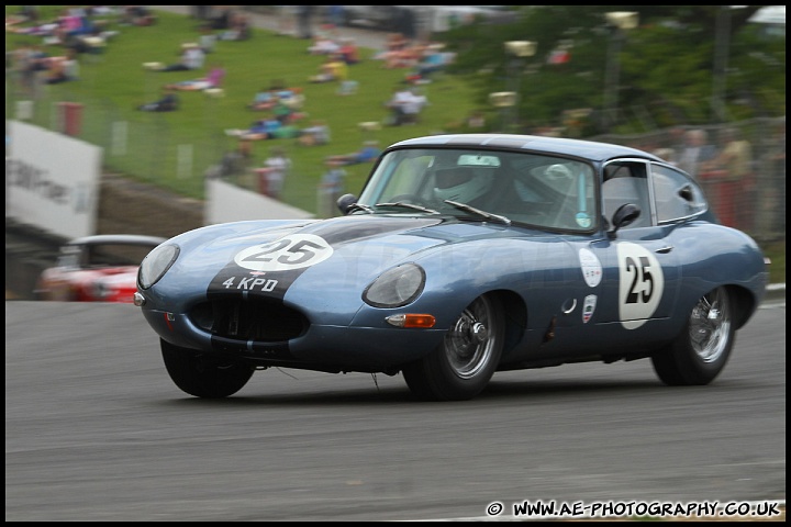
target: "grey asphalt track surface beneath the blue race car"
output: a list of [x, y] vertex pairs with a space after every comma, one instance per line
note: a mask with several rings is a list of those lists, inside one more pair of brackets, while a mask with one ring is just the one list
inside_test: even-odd
[[708, 386], [567, 365], [463, 403], [277, 369], [199, 400], [137, 307], [5, 302], [7, 522], [513, 519], [537, 500], [784, 504], [784, 301]]

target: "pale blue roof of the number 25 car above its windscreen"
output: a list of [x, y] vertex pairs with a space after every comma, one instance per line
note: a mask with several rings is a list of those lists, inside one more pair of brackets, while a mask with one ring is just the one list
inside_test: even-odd
[[598, 143], [593, 141], [545, 137], [541, 135], [516, 134], [446, 134], [414, 137], [391, 145], [390, 148], [405, 146], [458, 146], [538, 150], [550, 154], [564, 154], [588, 159], [605, 161], [617, 157], [638, 157], [661, 161], [647, 152], [628, 146]]

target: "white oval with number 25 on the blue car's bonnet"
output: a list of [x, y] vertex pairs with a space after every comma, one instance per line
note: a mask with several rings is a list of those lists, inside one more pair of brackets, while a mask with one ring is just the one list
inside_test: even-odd
[[321, 236], [292, 234], [248, 247], [234, 257], [237, 266], [253, 271], [290, 271], [326, 260], [333, 248]]

